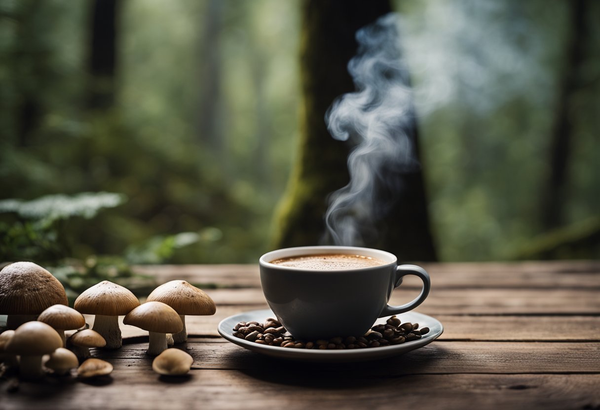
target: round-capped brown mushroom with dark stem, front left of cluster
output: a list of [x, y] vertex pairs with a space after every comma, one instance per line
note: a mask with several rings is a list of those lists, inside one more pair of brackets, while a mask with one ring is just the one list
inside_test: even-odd
[[43, 322], [26, 322], [17, 327], [5, 350], [20, 355], [19, 372], [22, 378], [42, 375], [41, 357], [62, 347], [61, 336]]

